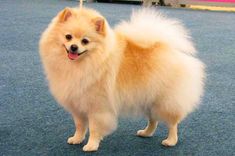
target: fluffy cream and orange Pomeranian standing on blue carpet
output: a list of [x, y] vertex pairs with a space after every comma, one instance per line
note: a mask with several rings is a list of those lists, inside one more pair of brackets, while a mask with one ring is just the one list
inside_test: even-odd
[[97, 11], [65, 8], [41, 36], [40, 56], [57, 102], [71, 113], [76, 131], [69, 144], [96, 151], [118, 116], [142, 115], [153, 135], [169, 128], [165, 146], [178, 141], [177, 125], [200, 103], [204, 65], [182, 24], [143, 8], [112, 29]]

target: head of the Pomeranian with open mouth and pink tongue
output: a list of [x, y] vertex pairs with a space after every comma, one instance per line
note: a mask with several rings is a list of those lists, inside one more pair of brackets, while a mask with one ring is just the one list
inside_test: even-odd
[[101, 53], [107, 27], [104, 17], [94, 10], [65, 8], [47, 29], [48, 49], [44, 48], [43, 51], [48, 51], [50, 56], [66, 56], [70, 60], [80, 60], [94, 55], [93, 53]]

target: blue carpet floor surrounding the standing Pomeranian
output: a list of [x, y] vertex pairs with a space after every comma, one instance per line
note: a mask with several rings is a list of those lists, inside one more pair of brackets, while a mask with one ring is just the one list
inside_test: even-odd
[[[0, 156], [26, 155], [223, 155], [235, 153], [235, 14], [159, 8], [191, 30], [199, 57], [207, 65], [201, 107], [179, 126], [179, 143], [165, 148], [166, 126], [152, 138], [135, 136], [144, 119], [121, 119], [100, 150], [85, 154], [68, 145], [70, 115], [56, 104], [44, 80], [38, 54], [41, 32], [65, 0], [0, 0]], [[111, 25], [127, 19], [138, 5], [86, 4]], [[86, 140], [87, 141], [87, 140]], [[86, 142], [85, 141], [85, 142]]]

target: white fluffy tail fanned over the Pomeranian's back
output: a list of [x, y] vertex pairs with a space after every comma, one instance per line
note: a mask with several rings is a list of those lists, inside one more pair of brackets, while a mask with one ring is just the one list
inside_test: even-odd
[[141, 47], [160, 42], [184, 53], [196, 52], [187, 30], [179, 21], [165, 18], [150, 8], [133, 11], [130, 21], [121, 22], [115, 30]]

